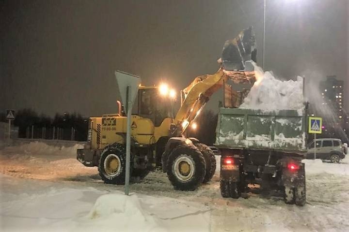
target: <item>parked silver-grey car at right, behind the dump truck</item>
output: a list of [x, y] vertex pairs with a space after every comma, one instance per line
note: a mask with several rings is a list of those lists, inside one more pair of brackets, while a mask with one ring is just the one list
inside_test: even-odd
[[344, 145], [340, 139], [316, 139], [308, 145], [307, 159], [314, 159], [314, 145], [316, 142], [316, 158], [339, 163], [345, 158]]

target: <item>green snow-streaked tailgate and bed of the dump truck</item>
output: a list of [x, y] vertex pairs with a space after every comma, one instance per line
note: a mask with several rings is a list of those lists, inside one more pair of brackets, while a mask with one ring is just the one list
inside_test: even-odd
[[220, 108], [218, 148], [306, 152], [304, 110], [263, 111]]

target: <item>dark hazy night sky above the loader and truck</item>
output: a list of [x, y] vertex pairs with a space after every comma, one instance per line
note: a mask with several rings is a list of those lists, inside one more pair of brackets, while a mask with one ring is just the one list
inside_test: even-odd
[[[266, 70], [347, 80], [348, 2], [267, 0]], [[1, 1], [0, 110], [115, 112], [116, 69], [182, 89], [250, 25], [261, 61], [262, 20], [263, 0]]]

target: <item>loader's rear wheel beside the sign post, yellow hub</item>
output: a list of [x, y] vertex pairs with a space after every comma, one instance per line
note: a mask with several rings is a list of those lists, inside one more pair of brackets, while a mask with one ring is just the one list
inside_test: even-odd
[[[107, 145], [99, 160], [98, 173], [106, 184], [124, 185], [126, 174], [126, 147], [123, 144]], [[132, 162], [130, 163], [132, 175]]]

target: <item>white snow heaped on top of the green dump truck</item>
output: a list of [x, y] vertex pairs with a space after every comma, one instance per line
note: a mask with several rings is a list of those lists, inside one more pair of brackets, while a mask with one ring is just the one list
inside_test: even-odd
[[273, 73], [263, 72], [254, 64], [257, 81], [239, 108], [274, 110], [300, 110], [303, 105], [303, 78], [297, 81], [277, 80]]

